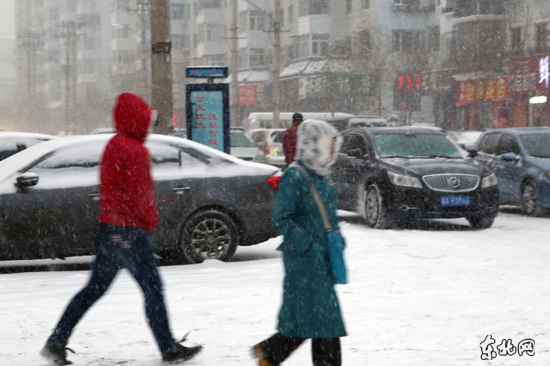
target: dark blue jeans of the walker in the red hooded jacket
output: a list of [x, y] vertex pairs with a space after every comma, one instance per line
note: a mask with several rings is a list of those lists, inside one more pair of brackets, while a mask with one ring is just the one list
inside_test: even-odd
[[120, 227], [98, 222], [94, 230], [94, 253], [90, 280], [65, 309], [56, 329], [47, 340], [50, 347], [64, 348], [69, 336], [85, 312], [105, 293], [124, 266], [142, 288], [145, 313], [160, 352], [164, 355], [175, 347], [168, 326], [162, 294], [162, 281], [151, 234], [140, 227]]

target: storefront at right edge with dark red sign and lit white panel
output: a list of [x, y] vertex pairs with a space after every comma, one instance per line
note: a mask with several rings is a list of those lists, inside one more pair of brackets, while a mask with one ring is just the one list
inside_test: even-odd
[[550, 55], [510, 59], [514, 126], [550, 126]]

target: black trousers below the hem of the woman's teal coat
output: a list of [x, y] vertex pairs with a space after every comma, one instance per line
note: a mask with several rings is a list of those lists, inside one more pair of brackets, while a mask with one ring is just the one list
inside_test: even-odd
[[[261, 342], [260, 347], [267, 361], [270, 361], [273, 366], [278, 366], [304, 341], [304, 338], [288, 337], [277, 333]], [[312, 338], [311, 356], [314, 366], [342, 365], [340, 338]]]

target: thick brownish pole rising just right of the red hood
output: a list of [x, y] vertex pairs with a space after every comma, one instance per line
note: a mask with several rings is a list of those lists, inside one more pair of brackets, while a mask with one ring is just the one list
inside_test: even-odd
[[151, 0], [151, 102], [157, 110], [153, 133], [173, 130], [170, 1]]

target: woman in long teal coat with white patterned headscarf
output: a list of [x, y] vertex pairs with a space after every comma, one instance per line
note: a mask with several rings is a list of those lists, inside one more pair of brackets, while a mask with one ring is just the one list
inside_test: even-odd
[[[325, 204], [333, 231], [339, 233], [336, 193], [330, 167], [340, 138], [326, 122], [309, 119], [298, 128], [297, 163]], [[346, 336], [328, 260], [327, 233], [319, 207], [302, 172], [290, 166], [274, 204], [273, 227], [283, 234], [285, 281], [278, 333], [254, 346], [260, 366], [282, 363], [311, 338], [314, 366], [341, 365], [340, 337]]]

